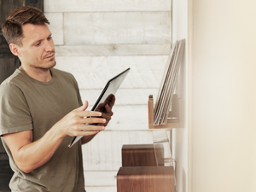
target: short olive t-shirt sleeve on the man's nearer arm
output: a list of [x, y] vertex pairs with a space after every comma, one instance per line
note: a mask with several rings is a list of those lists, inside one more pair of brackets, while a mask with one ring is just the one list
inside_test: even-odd
[[15, 84], [0, 86], [0, 136], [32, 130], [32, 117], [22, 91]]

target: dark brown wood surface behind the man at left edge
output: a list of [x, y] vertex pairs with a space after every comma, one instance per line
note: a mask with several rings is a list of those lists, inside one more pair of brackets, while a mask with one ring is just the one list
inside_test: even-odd
[[[3, 38], [2, 24], [9, 13], [20, 6], [33, 6], [44, 11], [44, 0], [0, 0], [0, 84], [9, 75], [20, 67], [20, 60], [9, 50], [5, 38]], [[9, 157], [6, 154], [2, 142], [0, 142], [0, 192], [8, 192], [9, 180], [13, 172], [9, 166]]]

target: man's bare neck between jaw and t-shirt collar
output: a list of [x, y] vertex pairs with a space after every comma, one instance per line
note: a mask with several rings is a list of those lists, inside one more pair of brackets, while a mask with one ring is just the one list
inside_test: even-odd
[[32, 79], [36, 79], [41, 82], [49, 82], [52, 79], [49, 68], [36, 68], [36, 67], [24, 67], [20, 66], [22, 70], [30, 76]]

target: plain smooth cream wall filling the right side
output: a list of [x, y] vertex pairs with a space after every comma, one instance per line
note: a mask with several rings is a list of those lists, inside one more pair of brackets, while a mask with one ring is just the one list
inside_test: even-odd
[[256, 2], [193, 0], [189, 191], [256, 191]]

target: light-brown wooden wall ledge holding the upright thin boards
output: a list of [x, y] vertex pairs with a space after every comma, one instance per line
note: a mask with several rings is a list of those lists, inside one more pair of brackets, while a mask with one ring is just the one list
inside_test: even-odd
[[183, 127], [183, 99], [173, 95], [172, 111], [170, 111], [166, 125], [154, 126], [154, 99], [148, 96], [148, 128], [149, 129], [172, 129]]

